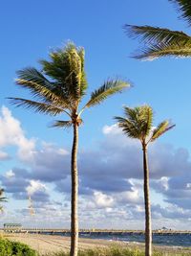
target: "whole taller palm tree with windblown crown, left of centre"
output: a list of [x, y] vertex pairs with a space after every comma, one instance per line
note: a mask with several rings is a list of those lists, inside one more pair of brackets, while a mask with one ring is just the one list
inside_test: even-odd
[[81, 114], [87, 108], [101, 104], [106, 98], [121, 92], [130, 84], [126, 81], [105, 81], [96, 89], [90, 100], [80, 109], [83, 96], [87, 92], [87, 80], [84, 70], [84, 50], [69, 43], [63, 49], [57, 49], [50, 54], [50, 60], [40, 60], [41, 71], [35, 68], [25, 68], [18, 71], [16, 83], [28, 89], [34, 100], [10, 98], [11, 104], [24, 106], [36, 112], [52, 116], [65, 114], [68, 120], [53, 123], [55, 128], [70, 128], [74, 130], [74, 140], [71, 157], [71, 256], [77, 255], [78, 244], [78, 175], [77, 150], [78, 128], [82, 124]]

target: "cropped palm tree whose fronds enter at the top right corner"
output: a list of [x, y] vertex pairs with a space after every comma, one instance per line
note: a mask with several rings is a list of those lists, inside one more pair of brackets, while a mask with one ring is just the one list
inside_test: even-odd
[[[174, 3], [180, 18], [191, 26], [191, 2], [190, 0], [169, 0]], [[125, 25], [125, 32], [132, 37], [140, 37], [143, 46], [133, 55], [134, 58], [159, 58], [165, 56], [191, 57], [191, 36], [180, 31], [171, 31], [165, 28], [151, 26]]]

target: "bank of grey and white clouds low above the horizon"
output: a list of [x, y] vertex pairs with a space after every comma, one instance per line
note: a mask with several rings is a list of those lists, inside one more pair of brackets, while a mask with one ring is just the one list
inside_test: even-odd
[[[20, 122], [5, 106], [1, 109], [0, 130], [0, 161], [9, 162], [15, 157], [7, 151], [8, 146], [15, 147], [17, 155], [15, 165], [5, 168], [0, 177], [6, 193], [17, 200], [26, 200], [30, 195], [38, 221], [42, 213], [44, 220], [51, 214], [57, 225], [63, 226], [63, 221], [68, 225], [70, 151], [45, 142], [36, 147], [36, 141], [25, 136]], [[108, 228], [112, 218], [114, 228], [143, 228], [140, 144], [125, 137], [116, 125], [105, 126], [102, 131], [104, 137], [96, 149], [79, 151], [81, 225], [86, 227], [89, 220], [90, 226]], [[189, 151], [157, 142], [148, 153], [154, 226], [186, 229], [191, 222]], [[17, 213], [28, 220], [27, 208], [17, 209]]]

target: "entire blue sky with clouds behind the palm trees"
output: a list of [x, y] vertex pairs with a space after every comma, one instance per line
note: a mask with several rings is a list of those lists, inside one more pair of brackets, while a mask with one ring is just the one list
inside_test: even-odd
[[[180, 229], [187, 227], [184, 222], [190, 221], [191, 213], [188, 201], [191, 193], [191, 60], [162, 58], [138, 61], [130, 58], [138, 48], [138, 41], [124, 34], [124, 24], [148, 24], [189, 33], [187, 24], [178, 19], [175, 7], [166, 0], [9, 0], [1, 5], [0, 103], [4, 108], [0, 115], [0, 151], [7, 153], [7, 156], [2, 156], [0, 170], [2, 186], [10, 198], [3, 221], [12, 221], [12, 216], [16, 216], [13, 219], [16, 221], [22, 216], [23, 224], [27, 224], [31, 218], [26, 200], [30, 190], [36, 208], [36, 223], [41, 222], [40, 214], [50, 211], [54, 224], [69, 226], [71, 132], [48, 128], [51, 117], [22, 108], [15, 109], [5, 98], [30, 97], [28, 92], [14, 84], [16, 70], [27, 66], [40, 68], [38, 59], [48, 58], [53, 48], [72, 40], [85, 48], [89, 92], [104, 80], [118, 76], [132, 81], [134, 85], [123, 94], [84, 113], [84, 125], [80, 129], [79, 209], [86, 214], [81, 217], [81, 225], [86, 225], [86, 218], [90, 218], [92, 213], [95, 218], [90, 226], [104, 227], [108, 221], [110, 227], [111, 216], [114, 227], [127, 228], [127, 222], [132, 228], [140, 224], [143, 226], [141, 155], [136, 143], [129, 140], [124, 145], [117, 143], [126, 138], [114, 126], [113, 116], [122, 114], [122, 105], [146, 103], [155, 110], [156, 124], [166, 118], [176, 124], [174, 130], [159, 140], [159, 146], [154, 145], [150, 151], [153, 157], [151, 186], [155, 201], [154, 225], [173, 224], [174, 228]], [[8, 125], [12, 126], [11, 130]], [[40, 159], [39, 155], [49, 161]], [[103, 155], [109, 160], [103, 162]], [[135, 160], [133, 164], [130, 161], [132, 157]], [[108, 184], [108, 189], [104, 184]], [[178, 197], [180, 193], [181, 198]], [[91, 201], [94, 203], [91, 204]], [[43, 207], [45, 202], [46, 206]], [[125, 203], [126, 207], [123, 206]], [[122, 216], [124, 224], [120, 221]], [[135, 216], [139, 216], [138, 221], [135, 221]], [[44, 225], [50, 224], [47, 220]]]

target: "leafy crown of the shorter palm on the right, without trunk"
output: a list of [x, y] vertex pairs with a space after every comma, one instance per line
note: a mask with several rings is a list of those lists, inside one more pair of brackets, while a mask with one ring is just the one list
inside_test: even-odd
[[153, 128], [153, 109], [149, 105], [134, 108], [124, 106], [124, 114], [125, 117], [115, 117], [118, 127], [122, 128], [128, 137], [138, 139], [144, 146], [175, 126], [170, 126], [169, 121], [165, 120], [157, 128]]

